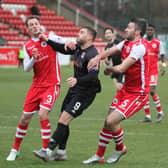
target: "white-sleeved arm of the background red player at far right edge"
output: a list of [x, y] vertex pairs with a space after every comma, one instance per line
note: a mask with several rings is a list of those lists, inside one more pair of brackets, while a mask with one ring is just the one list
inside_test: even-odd
[[162, 42], [160, 42], [159, 54], [162, 61], [161, 75], [164, 75], [166, 71], [166, 58], [165, 58], [165, 49]]

